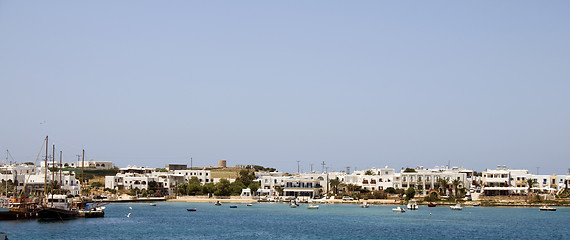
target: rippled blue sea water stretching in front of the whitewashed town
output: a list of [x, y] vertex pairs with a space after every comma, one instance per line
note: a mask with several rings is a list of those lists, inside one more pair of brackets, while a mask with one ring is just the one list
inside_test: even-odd
[[[570, 208], [449, 207], [392, 212], [394, 206], [257, 203], [109, 204], [105, 218], [2, 221], [13, 239], [570, 239]], [[132, 210], [129, 209], [132, 207]], [[187, 208], [197, 208], [188, 212]], [[127, 218], [127, 214], [131, 213]], [[430, 215], [431, 213], [431, 215]]]

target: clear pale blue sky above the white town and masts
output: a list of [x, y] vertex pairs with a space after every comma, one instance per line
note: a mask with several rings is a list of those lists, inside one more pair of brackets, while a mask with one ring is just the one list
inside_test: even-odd
[[49, 135], [64, 161], [84, 148], [119, 167], [192, 157], [285, 172], [449, 161], [566, 173], [569, 12], [568, 1], [0, 1], [0, 156], [33, 161]]

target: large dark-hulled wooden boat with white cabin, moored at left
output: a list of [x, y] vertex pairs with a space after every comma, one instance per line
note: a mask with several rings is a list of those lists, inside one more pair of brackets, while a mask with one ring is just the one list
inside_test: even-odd
[[72, 208], [66, 195], [52, 194], [38, 212], [40, 220], [69, 220], [77, 217], [79, 210]]

